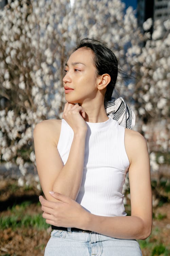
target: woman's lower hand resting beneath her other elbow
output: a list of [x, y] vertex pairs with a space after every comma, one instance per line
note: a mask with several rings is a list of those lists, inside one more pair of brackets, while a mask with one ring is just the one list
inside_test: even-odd
[[39, 196], [41, 209], [44, 211], [43, 218], [46, 223], [57, 227], [75, 227], [83, 229], [88, 219], [88, 212], [70, 197], [50, 191], [57, 202], [48, 201]]

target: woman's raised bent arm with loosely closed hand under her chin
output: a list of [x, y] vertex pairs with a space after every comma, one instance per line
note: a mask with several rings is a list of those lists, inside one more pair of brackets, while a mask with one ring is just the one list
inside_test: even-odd
[[[68, 160], [65, 165], [57, 150], [56, 136], [60, 133], [61, 120], [45, 120], [34, 129], [34, 147], [37, 171], [41, 187], [48, 200], [56, 201], [49, 191], [76, 199], [79, 193], [83, 165], [87, 125], [79, 105], [65, 104], [63, 117], [74, 132]], [[59, 136], [57, 136], [59, 138]], [[78, 157], [79, 156], [79, 157]]]

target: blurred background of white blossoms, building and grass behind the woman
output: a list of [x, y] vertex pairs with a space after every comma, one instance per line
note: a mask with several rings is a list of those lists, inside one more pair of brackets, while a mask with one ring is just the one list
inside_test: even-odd
[[[62, 118], [65, 61], [84, 37], [103, 40], [122, 71], [115, 95], [148, 143], [153, 229], [143, 256], [170, 255], [170, 1], [0, 0], [0, 255], [44, 255], [33, 130]], [[127, 75], [128, 74], [128, 75]], [[130, 189], [124, 185], [128, 215]]]

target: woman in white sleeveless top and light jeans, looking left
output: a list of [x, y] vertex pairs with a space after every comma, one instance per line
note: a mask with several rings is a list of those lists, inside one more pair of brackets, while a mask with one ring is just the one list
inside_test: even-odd
[[[83, 39], [65, 71], [63, 119], [45, 120], [34, 129], [46, 197], [39, 200], [53, 229], [45, 255], [141, 255], [136, 239], [146, 239], [152, 226], [150, 164], [141, 134], [105, 111], [117, 59], [103, 43]], [[128, 171], [131, 216], [124, 212], [122, 195]]]

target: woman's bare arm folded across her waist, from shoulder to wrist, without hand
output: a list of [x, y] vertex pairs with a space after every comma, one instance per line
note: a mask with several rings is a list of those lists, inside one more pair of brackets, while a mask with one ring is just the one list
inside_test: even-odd
[[115, 238], [146, 239], [152, 228], [152, 192], [147, 143], [140, 133], [126, 129], [125, 147], [130, 160], [131, 216], [88, 214], [83, 229]]

